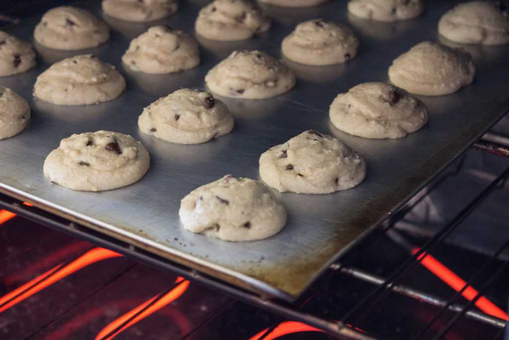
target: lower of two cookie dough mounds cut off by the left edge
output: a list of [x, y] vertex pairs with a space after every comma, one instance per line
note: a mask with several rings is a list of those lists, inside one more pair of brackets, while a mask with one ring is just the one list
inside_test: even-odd
[[0, 139], [19, 134], [29, 123], [30, 107], [16, 92], [0, 86]]

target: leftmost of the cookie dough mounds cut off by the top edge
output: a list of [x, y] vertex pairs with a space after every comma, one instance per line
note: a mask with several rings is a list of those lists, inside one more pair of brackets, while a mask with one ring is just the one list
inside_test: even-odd
[[177, 0], [103, 0], [107, 15], [126, 21], [145, 22], [162, 19], [177, 12]]

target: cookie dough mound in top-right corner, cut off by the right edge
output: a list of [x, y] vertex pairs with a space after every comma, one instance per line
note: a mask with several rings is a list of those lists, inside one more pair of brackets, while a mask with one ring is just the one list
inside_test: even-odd
[[495, 2], [459, 4], [440, 18], [438, 33], [462, 44], [504, 45], [509, 42], [509, 14]]

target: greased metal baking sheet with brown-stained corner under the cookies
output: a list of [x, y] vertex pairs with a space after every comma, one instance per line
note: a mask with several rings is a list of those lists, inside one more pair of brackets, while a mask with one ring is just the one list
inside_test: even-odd
[[[509, 108], [509, 47], [466, 46], [477, 69], [472, 85], [440, 97], [421, 96], [429, 123], [398, 140], [368, 140], [332, 126], [328, 108], [338, 93], [368, 81], [388, 81], [392, 60], [424, 41], [439, 38], [441, 14], [457, 2], [428, 1], [423, 16], [397, 23], [355, 19], [346, 1], [316, 8], [264, 7], [272, 28], [260, 37], [216, 42], [197, 37], [193, 22], [207, 1], [181, 1], [179, 12], [148, 24], [104, 17], [111, 39], [92, 49], [53, 51], [36, 44], [38, 66], [1, 77], [0, 85], [26, 98], [32, 108], [29, 126], [18, 136], [0, 141], [0, 191], [26, 199], [56, 215], [133, 244], [177, 263], [267, 296], [292, 300], [355, 240], [401, 206], [434, 175], [498, 121]], [[102, 15], [99, 2], [74, 3]], [[233, 132], [200, 145], [177, 145], [144, 135], [137, 128], [143, 108], [180, 88], [205, 89], [206, 72], [235, 49], [261, 49], [280, 57], [279, 44], [301, 21], [324, 18], [348, 24], [360, 41], [349, 63], [312, 67], [289, 62], [297, 74], [290, 92], [265, 100], [222, 98], [235, 116]], [[40, 17], [7, 32], [34, 43]], [[169, 24], [199, 41], [200, 66], [175, 74], [147, 75], [125, 68], [121, 56], [130, 39], [151, 25]], [[109, 102], [66, 107], [33, 98], [36, 77], [53, 62], [93, 53], [126, 77], [127, 89]], [[42, 167], [46, 155], [73, 133], [115, 130], [142, 141], [151, 154], [148, 173], [139, 182], [117, 190], [91, 193], [52, 185]], [[180, 200], [191, 190], [232, 173], [259, 179], [262, 152], [306, 129], [341, 139], [367, 163], [365, 180], [351, 190], [329, 195], [277, 194], [288, 210], [288, 223], [276, 236], [254, 242], [222, 242], [183, 230]], [[30, 235], [27, 235], [30, 237]]]

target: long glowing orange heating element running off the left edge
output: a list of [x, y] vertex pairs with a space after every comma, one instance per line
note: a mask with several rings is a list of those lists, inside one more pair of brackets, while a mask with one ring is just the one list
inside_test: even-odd
[[83, 267], [87, 267], [93, 263], [96, 263], [106, 258], [117, 256], [122, 255], [108, 249], [94, 248], [84, 253], [67, 266], [64, 266], [62, 268], [59, 268], [62, 266], [62, 264], [56, 266], [50, 271], [30, 281], [29, 283], [22, 285], [13, 292], [0, 298], [0, 313], [14, 306], [15, 304], [23, 301], [24, 299], [31, 297], [37, 292], [45, 289], [47, 286], [55, 283], [56, 281], [63, 279], [64, 277], [80, 270]]

